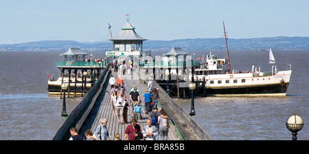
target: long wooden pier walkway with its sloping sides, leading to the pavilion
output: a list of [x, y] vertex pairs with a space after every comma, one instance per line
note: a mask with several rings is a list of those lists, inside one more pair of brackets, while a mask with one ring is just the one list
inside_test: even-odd
[[[58, 133], [55, 135], [54, 140], [68, 140], [70, 137], [69, 128], [71, 128], [71, 126], [75, 126], [78, 129], [78, 133], [84, 137], [84, 131], [87, 129], [91, 129], [92, 132], [95, 131], [95, 128], [100, 124], [99, 121], [101, 118], [107, 119], [106, 126], [113, 140], [115, 139], [116, 133], [119, 133], [121, 135], [121, 139], [124, 140], [124, 131], [126, 130], [126, 126], [128, 126], [132, 120], [132, 110], [131, 107], [128, 107], [128, 123], [118, 124], [117, 118], [113, 116], [111, 94], [109, 94], [109, 91], [111, 91], [111, 86], [108, 85], [108, 80], [111, 74], [115, 76], [116, 80], [118, 74], [117, 72], [112, 72], [109, 68], [106, 69], [104, 69], [106, 73], [102, 73], [103, 76], [100, 76], [99, 78], [99, 80], [103, 80], [100, 88], [94, 86], [95, 90], [98, 90], [97, 94], [93, 94], [92, 98], [87, 98], [91, 99], [91, 101], [88, 101], [89, 104], [84, 105], [84, 107], [82, 107], [82, 105], [81, 107], [77, 107], [80, 108], [78, 109], [80, 110], [79, 113], [75, 114], [73, 117], [70, 117], [71, 114], [74, 114], [73, 112], [75, 110], [72, 111], [72, 113], [67, 118], [67, 120], [70, 122], [67, 122], [67, 120], [65, 121], [62, 127], [59, 129]], [[135, 76], [140, 76], [140, 74], [137, 73], [138, 72], [133, 72]], [[124, 80], [124, 87], [126, 87], [126, 99], [129, 103], [130, 89], [133, 88], [133, 85], [137, 86], [137, 89], [139, 89], [140, 92], [141, 100], [144, 100], [143, 96], [147, 89], [147, 82], [148, 80], [141, 80], [141, 78], [137, 80]], [[154, 87], [159, 88], [160, 91], [158, 105], [159, 110], [164, 109], [168, 113], [168, 116], [171, 118], [171, 127], [168, 132], [168, 140], [212, 140], [211, 137], [209, 137], [209, 135], [207, 135], [207, 133], [201, 129], [201, 126], [194, 122], [194, 120], [188, 113], [186, 113], [186, 111], [181, 109], [181, 107], [178, 107], [178, 105], [174, 103], [168, 94], [165, 94], [164, 89], [162, 89], [155, 82], [155, 80], [153, 83]], [[144, 102], [141, 103], [141, 106], [143, 111], [143, 119], [137, 120], [137, 122], [139, 122], [138, 124], [142, 129], [143, 126], [146, 125], [146, 120], [149, 118], [150, 114], [145, 115]]]

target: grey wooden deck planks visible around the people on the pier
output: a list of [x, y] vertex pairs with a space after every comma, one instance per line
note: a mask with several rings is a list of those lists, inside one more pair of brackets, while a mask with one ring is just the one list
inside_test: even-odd
[[[133, 72], [136, 73], [136, 72]], [[117, 80], [117, 72], [112, 72], [114, 78]], [[80, 135], [83, 135], [84, 137], [84, 131], [87, 129], [91, 129], [91, 131], [94, 133], [96, 127], [100, 124], [101, 118], [107, 119], [107, 129], [108, 132], [111, 134], [111, 137], [113, 140], [115, 140], [115, 134], [119, 133], [120, 138], [124, 140], [124, 131], [126, 130], [126, 126], [130, 124], [130, 121], [132, 120], [132, 109], [131, 107], [128, 107], [128, 123], [125, 124], [118, 124], [117, 118], [113, 115], [112, 106], [111, 106], [111, 94], [109, 93], [111, 91], [111, 86], [108, 85], [109, 77], [106, 80], [106, 84], [104, 84], [103, 89], [101, 91], [100, 96], [98, 96], [97, 102], [93, 105], [93, 109], [90, 111], [89, 115], [87, 116], [87, 119], [85, 120], [84, 124], [82, 124], [79, 133]], [[146, 93], [146, 85], [144, 82], [140, 82], [140, 80], [124, 80], [124, 87], [126, 87], [126, 100], [128, 100], [128, 103], [130, 104], [130, 89], [133, 88], [133, 85], [137, 86], [137, 89], [139, 89], [139, 93], [141, 96], [141, 100], [144, 100], [144, 94]], [[165, 91], [161, 91], [165, 92]], [[163, 99], [163, 98], [161, 98]], [[141, 108], [143, 113], [142, 120], [137, 120], [138, 124], [143, 128], [147, 123], [147, 118], [149, 118], [150, 114], [145, 114], [144, 110], [144, 101], [141, 103]], [[161, 107], [158, 107], [159, 110]], [[170, 122], [170, 129], [168, 131], [168, 140], [181, 140], [182, 137], [179, 137], [179, 134], [176, 133], [176, 129], [174, 124]]]

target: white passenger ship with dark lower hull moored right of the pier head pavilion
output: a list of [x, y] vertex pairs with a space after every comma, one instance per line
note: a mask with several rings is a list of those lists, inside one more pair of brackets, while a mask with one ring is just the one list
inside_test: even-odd
[[[207, 96], [286, 96], [292, 70], [260, 72], [254, 65], [251, 72], [230, 72], [223, 69], [226, 58], [211, 54], [206, 65], [194, 70], [194, 80], [205, 78]], [[190, 77], [191, 79], [191, 77]]]

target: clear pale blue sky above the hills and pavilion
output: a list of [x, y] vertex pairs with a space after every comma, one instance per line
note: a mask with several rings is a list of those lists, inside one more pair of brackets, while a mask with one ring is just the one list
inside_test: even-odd
[[309, 36], [308, 0], [1, 0], [0, 44], [111, 39], [127, 22], [148, 40]]

